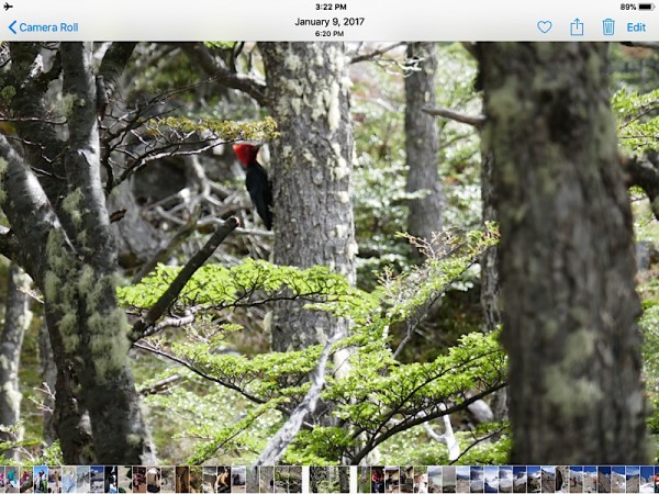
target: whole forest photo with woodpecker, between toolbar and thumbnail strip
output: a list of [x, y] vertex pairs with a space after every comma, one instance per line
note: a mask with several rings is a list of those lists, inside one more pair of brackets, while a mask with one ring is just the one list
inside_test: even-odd
[[658, 82], [651, 44], [2, 44], [0, 464], [657, 461]]

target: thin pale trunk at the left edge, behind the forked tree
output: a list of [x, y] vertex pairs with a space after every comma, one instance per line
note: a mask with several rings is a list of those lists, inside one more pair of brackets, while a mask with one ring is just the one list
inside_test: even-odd
[[[0, 337], [0, 424], [4, 426], [12, 426], [21, 418], [19, 366], [23, 336], [32, 319], [30, 297], [23, 291], [27, 288], [30, 288], [30, 277], [12, 262], [7, 281], [4, 326]], [[0, 442], [9, 439], [0, 434]], [[16, 451], [13, 449], [4, 450], [3, 454], [8, 459], [18, 459]]]

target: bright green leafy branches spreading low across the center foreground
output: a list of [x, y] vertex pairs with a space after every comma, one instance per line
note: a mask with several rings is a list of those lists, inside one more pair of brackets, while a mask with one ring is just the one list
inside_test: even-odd
[[[493, 242], [491, 232], [446, 238], [448, 254], [434, 252], [423, 267], [399, 277], [383, 277], [372, 293], [351, 288], [324, 267], [302, 270], [247, 260], [232, 268], [201, 268], [170, 308], [170, 315], [193, 313], [199, 323], [187, 327], [185, 337], [160, 334], [139, 345], [186, 367], [188, 380], [193, 373], [197, 384], [202, 378], [205, 386], [215, 383], [226, 390], [221, 393], [226, 402], [221, 407], [227, 415], [224, 420], [209, 422], [205, 414], [212, 413], [212, 407], [202, 407], [186, 428], [186, 437], [197, 438], [188, 461], [252, 457], [263, 449], [309, 391], [308, 375], [322, 350], [322, 346], [312, 346], [253, 357], [214, 351], [228, 335], [239, 332], [213, 321], [227, 308], [301, 299], [308, 301], [308, 310], [328, 311], [353, 323], [351, 334], [335, 347], [335, 351], [349, 349], [350, 371], [340, 377], [330, 373], [322, 392], [323, 403], [333, 404], [333, 418], [305, 427], [297, 436], [286, 456], [292, 463], [332, 464], [346, 456], [358, 461], [398, 433], [462, 408], [468, 403], [467, 392], [487, 395], [500, 386], [505, 357], [495, 334], [467, 335], [446, 355], [410, 364], [394, 358], [389, 335], [391, 324], [409, 321], [413, 326], [423, 317], [428, 300], [458, 282], [482, 248]], [[178, 271], [159, 266], [139, 284], [119, 289], [120, 299], [135, 310], [146, 310]], [[175, 393], [161, 395], [149, 398], [149, 403], [163, 411], [180, 412], [183, 403], [188, 409], [199, 403], [190, 393], [179, 388], [176, 397]]]

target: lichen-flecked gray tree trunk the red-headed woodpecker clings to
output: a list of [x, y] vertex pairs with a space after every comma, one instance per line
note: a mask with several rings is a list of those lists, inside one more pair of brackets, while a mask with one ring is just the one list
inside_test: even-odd
[[[328, 266], [355, 280], [353, 131], [344, 47], [338, 43], [265, 43], [272, 116], [275, 246], [278, 265]], [[272, 318], [272, 349], [326, 341], [346, 323], [327, 313], [282, 303]]]

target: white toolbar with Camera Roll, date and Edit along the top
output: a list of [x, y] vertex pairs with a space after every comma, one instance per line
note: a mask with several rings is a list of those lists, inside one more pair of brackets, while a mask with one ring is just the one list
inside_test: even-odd
[[[659, 0], [658, 0], [659, 1]], [[7, 0], [4, 41], [659, 40], [651, 2]]]

